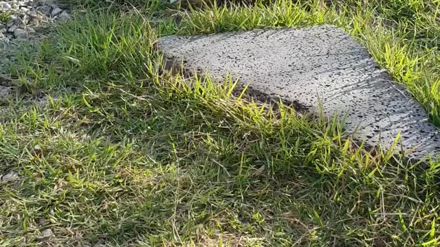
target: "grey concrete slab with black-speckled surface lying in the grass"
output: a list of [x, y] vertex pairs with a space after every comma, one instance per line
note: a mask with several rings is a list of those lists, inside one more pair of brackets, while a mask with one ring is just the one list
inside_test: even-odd
[[410, 158], [440, 154], [440, 132], [423, 107], [338, 27], [168, 36], [157, 47], [186, 71], [203, 71], [219, 82], [230, 74], [253, 92], [312, 113], [322, 103], [329, 117], [347, 114], [344, 128], [367, 145], [390, 148], [401, 132]]

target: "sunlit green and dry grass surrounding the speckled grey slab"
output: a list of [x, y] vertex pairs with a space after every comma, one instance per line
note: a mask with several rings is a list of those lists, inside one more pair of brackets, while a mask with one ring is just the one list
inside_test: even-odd
[[333, 23], [439, 123], [435, 5], [141, 3], [99, 5], [17, 54], [0, 174], [20, 179], [0, 182], [0, 246], [439, 244], [439, 161], [355, 148], [338, 121], [242, 99], [230, 81], [164, 74], [153, 49], [168, 34]]

